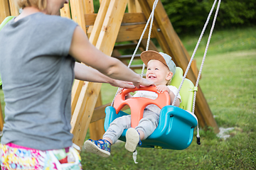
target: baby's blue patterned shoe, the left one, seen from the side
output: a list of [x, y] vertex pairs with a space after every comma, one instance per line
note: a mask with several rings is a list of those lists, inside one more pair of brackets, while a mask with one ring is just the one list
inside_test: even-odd
[[85, 149], [101, 157], [110, 157], [110, 146], [111, 144], [107, 140], [89, 139], [85, 141]]

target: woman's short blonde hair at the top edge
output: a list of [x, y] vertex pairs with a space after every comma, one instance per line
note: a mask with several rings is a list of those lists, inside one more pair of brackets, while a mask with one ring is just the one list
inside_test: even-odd
[[16, 0], [18, 8], [33, 6], [43, 11], [46, 9], [47, 0]]

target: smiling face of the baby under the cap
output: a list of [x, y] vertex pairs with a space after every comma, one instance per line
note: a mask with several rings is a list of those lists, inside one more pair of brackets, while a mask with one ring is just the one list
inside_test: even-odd
[[149, 60], [146, 70], [146, 79], [153, 81], [156, 86], [163, 84], [166, 85], [169, 81], [169, 69], [159, 60]]

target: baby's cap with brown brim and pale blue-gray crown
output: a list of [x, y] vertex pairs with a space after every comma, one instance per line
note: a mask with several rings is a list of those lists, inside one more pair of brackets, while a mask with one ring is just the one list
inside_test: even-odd
[[142, 62], [144, 62], [145, 64], [147, 64], [149, 60], [159, 60], [169, 68], [170, 72], [172, 72], [173, 74], [175, 74], [176, 72], [176, 64], [174, 63], [173, 60], [171, 60], [171, 56], [167, 55], [164, 52], [147, 50], [142, 52], [141, 59]]

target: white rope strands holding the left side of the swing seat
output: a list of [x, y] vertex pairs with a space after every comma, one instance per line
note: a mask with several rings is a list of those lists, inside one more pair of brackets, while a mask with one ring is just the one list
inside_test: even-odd
[[[150, 16], [149, 16], [148, 21], [146, 21], [146, 26], [144, 27], [144, 30], [143, 30], [143, 32], [142, 32], [142, 35], [141, 35], [141, 37], [139, 38], [139, 42], [137, 43], [137, 46], [136, 46], [136, 48], [135, 48], [135, 50], [134, 50], [134, 53], [132, 54], [131, 60], [129, 61], [129, 64], [128, 64], [128, 68], [131, 67], [132, 61], [134, 60], [134, 57], [135, 57], [135, 55], [136, 55], [136, 53], [137, 53], [137, 51], [138, 51], [138, 49], [139, 49], [139, 45], [141, 44], [142, 39], [143, 39], [143, 37], [144, 37], [144, 34], [145, 34], [145, 32], [146, 32], [146, 28], [149, 26], [149, 21], [151, 21], [151, 23], [150, 23], [150, 28], [149, 28], [149, 36], [148, 36], [148, 40], [147, 40], [147, 42], [146, 42], [146, 51], [149, 49], [149, 41], [150, 41], [151, 30], [152, 30], [153, 20], [154, 20], [154, 11], [155, 11], [155, 8], [156, 8], [156, 5], [157, 5], [158, 1], [159, 1], [159, 0], [155, 0], [155, 1], [154, 1], [151, 14], [150, 14]], [[141, 77], [143, 77], [144, 69], [145, 69], [145, 64], [143, 63]], [[117, 92], [116, 92], [116, 94], [114, 95], [114, 98], [117, 96], [118, 91], [119, 91], [119, 88], [117, 89]], [[113, 99], [113, 101], [112, 101], [112, 103], [111, 103], [111, 106], [113, 106], [113, 105], [114, 105], [114, 99]]]

